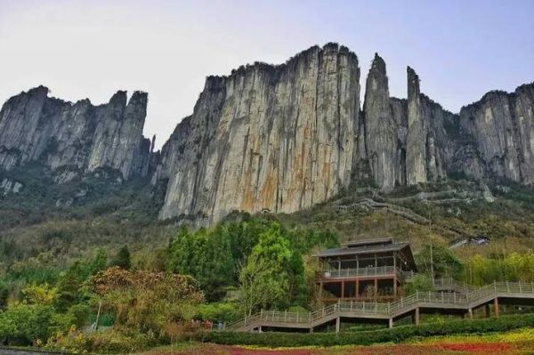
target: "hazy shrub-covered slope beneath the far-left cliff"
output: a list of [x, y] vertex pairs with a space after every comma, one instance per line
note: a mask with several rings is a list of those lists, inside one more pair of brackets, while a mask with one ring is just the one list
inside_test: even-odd
[[28, 258], [61, 266], [99, 246], [135, 251], [174, 235], [172, 222], [157, 220], [161, 190], [146, 180], [118, 182], [116, 173], [99, 171], [57, 186], [40, 166], [0, 173], [4, 178], [24, 188], [0, 194], [0, 274], [2, 266]]

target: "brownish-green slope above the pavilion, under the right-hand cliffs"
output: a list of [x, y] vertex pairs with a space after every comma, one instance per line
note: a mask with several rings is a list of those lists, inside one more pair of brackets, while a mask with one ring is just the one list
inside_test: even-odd
[[[449, 182], [397, 190], [390, 195], [375, 196], [376, 200], [414, 196], [417, 192], [432, 190], [478, 190], [471, 183]], [[341, 201], [312, 207], [295, 214], [282, 214], [282, 221], [308, 226], [328, 227], [338, 230], [344, 240], [374, 237], [392, 237], [408, 240], [414, 249], [432, 238], [436, 243], [448, 244], [459, 236], [444, 226], [463, 230], [471, 235], [490, 237], [488, 246], [464, 247], [460, 254], [502, 254], [503, 251], [524, 251], [534, 248], [534, 189], [513, 186], [502, 192], [492, 189], [494, 202], [482, 198], [466, 202], [426, 203], [421, 201], [395, 202], [395, 205], [432, 221], [430, 224], [417, 224], [392, 213], [377, 213], [365, 209], [338, 212], [333, 206], [351, 205], [360, 198], [371, 198], [372, 193], [352, 193]], [[430, 236], [430, 237], [429, 237]]]

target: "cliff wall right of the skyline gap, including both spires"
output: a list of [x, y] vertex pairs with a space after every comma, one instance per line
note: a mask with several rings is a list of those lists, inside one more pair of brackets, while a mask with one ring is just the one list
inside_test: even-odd
[[534, 85], [457, 115], [421, 93], [411, 68], [408, 99], [390, 97], [376, 54], [360, 112], [359, 77], [356, 56], [333, 44], [209, 77], [162, 149], [152, 178], [168, 180], [160, 218], [293, 212], [368, 177], [382, 190], [457, 173], [534, 180]]

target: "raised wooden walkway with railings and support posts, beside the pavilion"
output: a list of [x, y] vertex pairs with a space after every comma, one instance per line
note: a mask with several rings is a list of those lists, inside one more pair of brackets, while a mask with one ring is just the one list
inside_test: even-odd
[[408, 297], [401, 297], [393, 303], [365, 303], [340, 301], [317, 311], [308, 313], [287, 311], [261, 311], [238, 322], [229, 324], [225, 329], [239, 332], [262, 330], [262, 327], [281, 329], [307, 329], [320, 327], [333, 321], [339, 331], [340, 319], [383, 319], [393, 326], [394, 319], [412, 315], [419, 323], [419, 311], [438, 313], [457, 313], [473, 317], [473, 309], [493, 303], [498, 316], [499, 301], [510, 304], [534, 303], [534, 283], [495, 282], [481, 288], [463, 284], [442, 285], [443, 289], [456, 292], [417, 292]]

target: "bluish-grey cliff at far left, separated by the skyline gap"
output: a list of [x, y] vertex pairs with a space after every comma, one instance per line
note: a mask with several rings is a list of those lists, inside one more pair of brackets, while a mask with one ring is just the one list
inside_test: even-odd
[[39, 86], [12, 97], [0, 111], [0, 168], [39, 161], [65, 182], [99, 167], [125, 179], [147, 174], [150, 141], [143, 139], [147, 94], [116, 93], [108, 104], [75, 104], [48, 97]]

